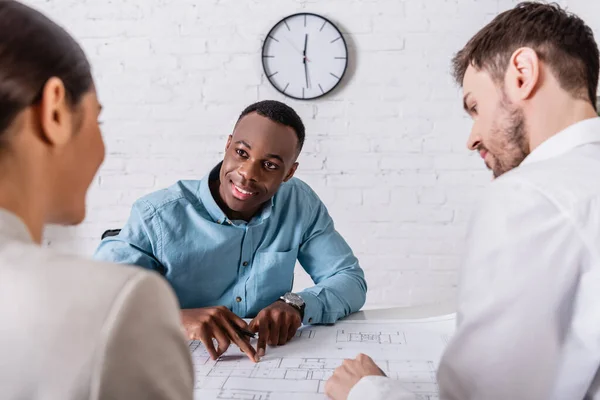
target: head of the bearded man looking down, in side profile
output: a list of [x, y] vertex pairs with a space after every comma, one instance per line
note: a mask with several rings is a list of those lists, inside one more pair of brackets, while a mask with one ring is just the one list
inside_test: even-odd
[[565, 128], [596, 108], [598, 46], [591, 29], [557, 5], [526, 2], [501, 13], [453, 67], [474, 121], [468, 147], [495, 177], [556, 133], [550, 127]]

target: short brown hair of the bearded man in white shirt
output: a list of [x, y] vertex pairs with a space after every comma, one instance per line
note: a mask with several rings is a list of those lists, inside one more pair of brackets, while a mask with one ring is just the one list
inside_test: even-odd
[[462, 85], [473, 65], [503, 82], [511, 55], [524, 46], [535, 50], [564, 90], [596, 108], [600, 56], [594, 34], [555, 3], [523, 2], [496, 16], [455, 55], [454, 78]]

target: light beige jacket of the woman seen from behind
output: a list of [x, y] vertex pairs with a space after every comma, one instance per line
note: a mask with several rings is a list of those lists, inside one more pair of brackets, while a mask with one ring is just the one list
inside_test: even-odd
[[43, 249], [0, 209], [0, 399], [192, 399], [162, 277]]

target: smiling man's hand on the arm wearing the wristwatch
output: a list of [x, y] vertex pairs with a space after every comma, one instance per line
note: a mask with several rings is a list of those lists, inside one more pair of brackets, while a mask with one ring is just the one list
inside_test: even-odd
[[267, 343], [281, 346], [292, 340], [301, 325], [300, 311], [284, 301], [276, 301], [263, 309], [250, 322], [250, 330], [258, 332], [258, 356], [265, 355]]

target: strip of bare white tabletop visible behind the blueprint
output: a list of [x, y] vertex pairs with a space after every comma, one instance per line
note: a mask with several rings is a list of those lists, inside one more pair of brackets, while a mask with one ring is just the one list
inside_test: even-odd
[[427, 304], [413, 307], [392, 307], [359, 311], [344, 318], [343, 321], [429, 318], [452, 314], [454, 312], [456, 312], [455, 304]]

